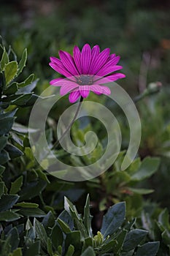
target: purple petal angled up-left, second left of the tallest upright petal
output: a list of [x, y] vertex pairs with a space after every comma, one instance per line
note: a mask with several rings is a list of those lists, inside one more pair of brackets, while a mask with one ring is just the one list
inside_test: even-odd
[[79, 72], [77, 71], [77, 68], [74, 64], [74, 59], [69, 53], [66, 53], [66, 51], [63, 50], [59, 50], [59, 56], [63, 66], [66, 67], [66, 69], [72, 73], [72, 75], [79, 75]]

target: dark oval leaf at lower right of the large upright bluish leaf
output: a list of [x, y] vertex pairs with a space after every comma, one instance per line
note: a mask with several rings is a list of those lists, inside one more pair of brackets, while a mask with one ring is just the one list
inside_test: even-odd
[[145, 230], [131, 230], [124, 241], [123, 252], [129, 252], [131, 249], [135, 249], [136, 246], [147, 236], [147, 231]]

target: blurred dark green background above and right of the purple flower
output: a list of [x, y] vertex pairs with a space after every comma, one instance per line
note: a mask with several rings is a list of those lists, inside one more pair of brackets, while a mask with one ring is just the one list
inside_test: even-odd
[[[49, 57], [58, 56], [60, 49], [72, 53], [74, 45], [82, 48], [86, 42], [98, 44], [101, 49], [111, 48], [112, 53], [121, 56], [126, 78], [119, 83], [131, 97], [142, 93], [150, 83], [161, 83], [158, 94], [136, 104], [142, 121], [139, 157], [161, 157], [161, 167], [147, 181], [147, 187], [155, 189], [152, 199], [170, 208], [169, 8], [168, 0], [1, 0], [0, 34], [19, 57], [28, 48], [23, 74], [34, 72], [39, 78], [37, 94], [58, 76], [48, 66]], [[20, 110], [20, 116], [20, 122], [28, 124], [26, 112]], [[128, 124], [120, 118], [120, 126], [126, 148]]]

